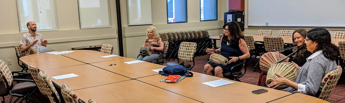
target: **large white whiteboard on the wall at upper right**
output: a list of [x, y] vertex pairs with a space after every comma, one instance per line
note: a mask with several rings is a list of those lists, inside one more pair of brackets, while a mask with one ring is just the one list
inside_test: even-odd
[[248, 26], [345, 27], [345, 0], [248, 0]]

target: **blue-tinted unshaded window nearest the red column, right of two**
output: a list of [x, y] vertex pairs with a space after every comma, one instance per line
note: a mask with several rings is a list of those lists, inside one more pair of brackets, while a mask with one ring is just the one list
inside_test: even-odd
[[217, 20], [217, 0], [200, 0], [200, 21]]

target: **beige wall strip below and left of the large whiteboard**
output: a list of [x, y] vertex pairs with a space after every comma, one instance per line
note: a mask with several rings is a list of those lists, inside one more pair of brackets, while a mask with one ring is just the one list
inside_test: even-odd
[[[248, 12], [248, 0], [245, 0], [245, 12]], [[298, 16], [295, 16], [298, 17]], [[294, 18], [292, 16], [292, 18]], [[278, 32], [280, 29], [299, 29], [299, 28], [303, 28], [306, 30], [310, 30], [312, 29], [312, 27], [248, 27], [248, 14], [245, 14], [245, 26], [244, 26], [245, 30], [244, 30], [244, 34], [251, 34], [251, 35], [255, 35], [257, 34], [257, 31], [259, 29], [271, 29], [272, 30], [272, 35], [278, 35]], [[336, 31], [344, 31], [345, 28], [326, 28], [329, 33], [331, 33], [332, 37], [334, 32]]]

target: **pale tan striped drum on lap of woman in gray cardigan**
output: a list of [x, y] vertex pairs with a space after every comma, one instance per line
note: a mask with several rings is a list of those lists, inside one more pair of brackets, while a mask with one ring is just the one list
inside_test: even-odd
[[[295, 81], [297, 76], [297, 67], [290, 62], [273, 64], [267, 72], [266, 84], [270, 84], [273, 80], [277, 79], [278, 76], [275, 73], [283, 76], [284, 78]], [[288, 87], [288, 85], [280, 85], [276, 89], [283, 89]]]

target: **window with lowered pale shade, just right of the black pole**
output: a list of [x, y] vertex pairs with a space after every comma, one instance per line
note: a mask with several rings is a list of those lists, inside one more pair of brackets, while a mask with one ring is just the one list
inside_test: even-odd
[[128, 25], [152, 24], [151, 0], [127, 0]]

